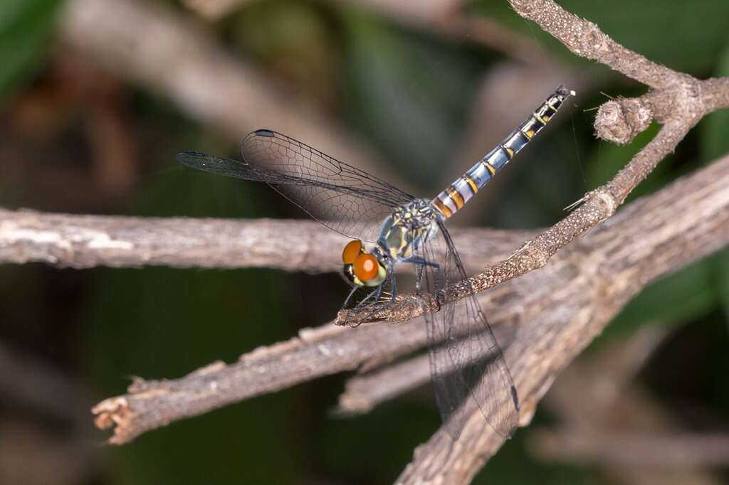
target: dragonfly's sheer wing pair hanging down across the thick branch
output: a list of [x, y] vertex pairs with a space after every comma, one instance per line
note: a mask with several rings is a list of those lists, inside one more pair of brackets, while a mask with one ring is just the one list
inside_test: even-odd
[[[432, 294], [466, 280], [466, 271], [448, 229], [426, 242], [421, 289]], [[467, 283], [466, 283], [467, 284]], [[475, 296], [444, 303], [426, 313], [435, 401], [453, 439], [458, 439], [474, 406], [504, 437], [515, 429], [519, 412], [516, 388], [499, 344]]]

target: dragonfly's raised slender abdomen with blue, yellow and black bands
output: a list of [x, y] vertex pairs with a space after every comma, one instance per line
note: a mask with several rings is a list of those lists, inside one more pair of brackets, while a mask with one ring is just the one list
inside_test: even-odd
[[453, 182], [447, 189], [440, 192], [433, 199], [433, 206], [443, 216], [451, 217], [466, 202], [473, 197], [478, 190], [488, 184], [488, 181], [506, 165], [519, 150], [534, 138], [534, 135], [542, 130], [547, 122], [557, 113], [559, 107], [566, 98], [574, 95], [574, 91], [566, 90], [560, 86], [555, 92], [542, 103], [534, 114], [525, 119], [516, 130], [504, 138], [496, 148], [489, 151], [486, 157], [480, 159], [476, 165], [471, 167], [463, 176]]

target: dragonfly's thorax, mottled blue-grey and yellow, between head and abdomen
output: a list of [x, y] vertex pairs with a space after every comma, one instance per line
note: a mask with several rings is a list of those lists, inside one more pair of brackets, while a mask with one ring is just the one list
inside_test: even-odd
[[393, 210], [380, 229], [377, 245], [394, 263], [412, 259], [437, 231], [437, 213], [428, 200], [416, 199]]

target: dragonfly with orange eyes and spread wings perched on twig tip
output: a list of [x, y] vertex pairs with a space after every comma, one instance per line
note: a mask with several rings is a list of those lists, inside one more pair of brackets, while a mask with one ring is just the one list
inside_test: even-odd
[[457, 301], [440, 296], [454, 283], [468, 285], [445, 221], [534, 139], [570, 95], [574, 91], [558, 87], [432, 200], [414, 197], [273, 130], [246, 136], [243, 161], [198, 151], [184, 151], [176, 158], [197, 170], [265, 182], [316, 221], [351, 238], [341, 259], [343, 276], [351, 285], [343, 309], [366, 311], [393, 304], [395, 267], [413, 264], [416, 294], [428, 293], [437, 300], [436, 310], [424, 318], [435, 401], [446, 429], [457, 440], [475, 414], [508, 438], [518, 425], [519, 399], [494, 332], [472, 291]]

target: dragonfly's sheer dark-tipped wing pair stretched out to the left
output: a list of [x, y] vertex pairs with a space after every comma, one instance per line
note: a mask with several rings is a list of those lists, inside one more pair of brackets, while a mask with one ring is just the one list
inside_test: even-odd
[[245, 162], [195, 151], [177, 159], [198, 170], [265, 182], [330, 229], [372, 242], [392, 209], [413, 199], [375, 176], [271, 130], [250, 133], [241, 151]]

